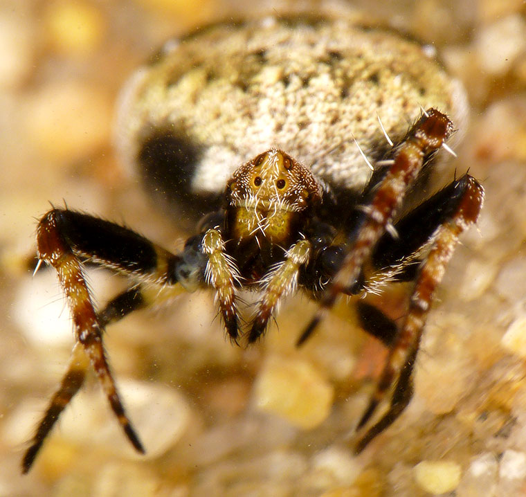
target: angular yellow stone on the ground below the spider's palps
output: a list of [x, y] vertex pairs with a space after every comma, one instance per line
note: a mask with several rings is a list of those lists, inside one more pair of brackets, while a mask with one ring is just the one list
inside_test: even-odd
[[309, 429], [330, 413], [334, 388], [310, 363], [271, 356], [257, 379], [255, 405]]

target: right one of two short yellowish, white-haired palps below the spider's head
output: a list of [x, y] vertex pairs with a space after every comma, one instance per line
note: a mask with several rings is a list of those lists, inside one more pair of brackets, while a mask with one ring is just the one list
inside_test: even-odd
[[248, 332], [248, 343], [262, 335], [280, 299], [296, 289], [300, 268], [309, 262], [310, 255], [311, 242], [300, 240], [287, 251], [285, 260], [264, 276], [264, 293]]

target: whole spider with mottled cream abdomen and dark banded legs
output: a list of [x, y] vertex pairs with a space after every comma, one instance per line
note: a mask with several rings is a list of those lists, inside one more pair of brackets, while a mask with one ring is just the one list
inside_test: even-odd
[[[266, 332], [280, 301], [301, 289], [318, 311], [300, 346], [341, 294], [412, 282], [401, 325], [359, 303], [363, 328], [389, 354], [358, 430], [390, 393], [388, 408], [356, 444], [362, 451], [412, 397], [433, 294], [457, 238], [482, 208], [484, 191], [469, 174], [407, 207], [436, 168], [439, 149], [451, 151], [453, 123], [444, 111], [462, 121], [464, 107], [462, 90], [428, 50], [345, 19], [216, 24], [167, 44], [131, 78], [117, 138], [161, 205], [191, 222], [201, 217], [197, 234], [172, 253], [130, 228], [68, 208], [40, 219], [39, 264], [57, 271], [76, 343], [24, 455], [24, 473], [90, 365], [126, 437], [144, 452], [102, 336], [110, 323], [152, 304], [145, 291], [152, 284], [212, 289], [227, 336], [248, 344]], [[100, 311], [84, 262], [131, 280]], [[239, 318], [243, 289], [260, 292], [248, 323]]]

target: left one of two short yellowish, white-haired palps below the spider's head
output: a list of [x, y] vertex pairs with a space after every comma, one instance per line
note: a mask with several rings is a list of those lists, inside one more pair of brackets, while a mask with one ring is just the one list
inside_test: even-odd
[[216, 290], [221, 318], [228, 336], [237, 343], [239, 337], [239, 314], [235, 295], [235, 284], [241, 278], [235, 261], [225, 252], [221, 233], [210, 228], [203, 235], [201, 251], [208, 257], [205, 269], [205, 280]]

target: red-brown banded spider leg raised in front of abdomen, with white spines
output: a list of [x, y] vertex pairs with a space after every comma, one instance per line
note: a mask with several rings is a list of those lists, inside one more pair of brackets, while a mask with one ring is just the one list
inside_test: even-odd
[[453, 124], [444, 114], [429, 109], [395, 149], [393, 163], [378, 188], [374, 190], [371, 204], [364, 209], [365, 217], [359, 227], [356, 240], [321, 299], [314, 318], [302, 332], [298, 345], [304, 343], [314, 332], [320, 320], [336, 302], [338, 295], [356, 282], [363, 262], [386, 232], [386, 227], [401, 205], [408, 187], [417, 178], [426, 158], [442, 146], [452, 131]]

